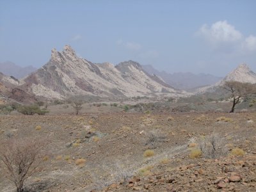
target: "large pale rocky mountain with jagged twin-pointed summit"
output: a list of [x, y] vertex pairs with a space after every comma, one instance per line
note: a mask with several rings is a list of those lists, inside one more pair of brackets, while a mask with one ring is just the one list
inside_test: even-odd
[[52, 49], [49, 62], [22, 82], [23, 87], [37, 96], [59, 99], [72, 95], [176, 97], [186, 94], [150, 76], [139, 63], [95, 64], [77, 57], [69, 45], [62, 52]]

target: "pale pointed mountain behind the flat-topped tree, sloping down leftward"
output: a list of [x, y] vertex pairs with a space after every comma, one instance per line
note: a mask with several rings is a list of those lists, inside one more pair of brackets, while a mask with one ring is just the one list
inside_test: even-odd
[[256, 83], [256, 74], [253, 72], [246, 63], [240, 64], [237, 68], [232, 70], [221, 81], [210, 86], [204, 86], [195, 90], [195, 93], [214, 92], [217, 88], [220, 88], [226, 81], [238, 81], [241, 83]]

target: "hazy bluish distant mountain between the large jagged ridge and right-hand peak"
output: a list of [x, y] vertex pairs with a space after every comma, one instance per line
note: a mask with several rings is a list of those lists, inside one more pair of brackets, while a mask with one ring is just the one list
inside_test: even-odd
[[212, 76], [211, 74], [193, 74], [191, 72], [177, 72], [169, 74], [167, 72], [159, 72], [151, 65], [142, 65], [148, 74], [156, 74], [161, 77], [167, 84], [180, 90], [190, 90], [192, 88], [214, 84], [222, 79], [222, 77]]

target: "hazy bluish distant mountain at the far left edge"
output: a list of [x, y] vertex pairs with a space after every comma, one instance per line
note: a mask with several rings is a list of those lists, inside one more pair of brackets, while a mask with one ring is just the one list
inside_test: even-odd
[[22, 77], [28, 76], [31, 72], [36, 70], [35, 67], [28, 66], [28, 67], [20, 67], [11, 61], [5, 61], [0, 63], [0, 72], [6, 74], [6, 76], [13, 76], [17, 79]]

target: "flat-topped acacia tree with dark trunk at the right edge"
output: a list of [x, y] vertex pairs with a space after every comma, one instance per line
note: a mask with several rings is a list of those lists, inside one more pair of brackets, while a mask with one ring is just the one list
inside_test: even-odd
[[255, 92], [253, 84], [241, 83], [238, 81], [226, 81], [223, 84], [223, 88], [231, 93], [232, 97], [232, 108], [230, 113], [234, 113], [235, 107], [243, 97], [247, 97], [248, 94]]

